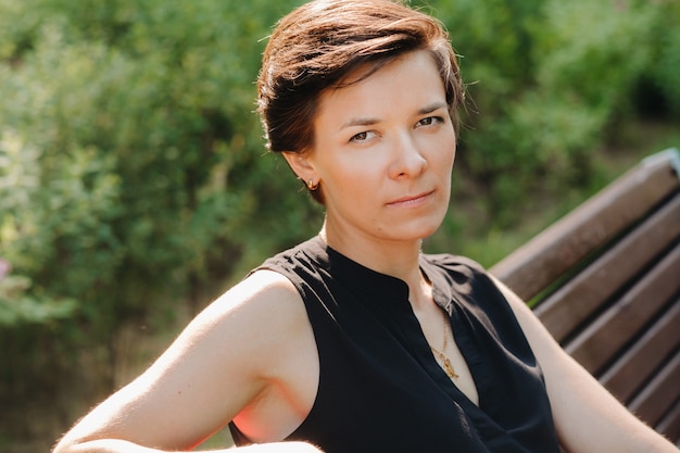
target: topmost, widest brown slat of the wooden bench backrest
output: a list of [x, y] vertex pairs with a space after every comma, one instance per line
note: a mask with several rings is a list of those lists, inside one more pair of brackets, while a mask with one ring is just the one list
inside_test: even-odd
[[680, 188], [673, 150], [644, 160], [491, 268], [524, 300], [555, 281], [593, 249], [634, 224]]

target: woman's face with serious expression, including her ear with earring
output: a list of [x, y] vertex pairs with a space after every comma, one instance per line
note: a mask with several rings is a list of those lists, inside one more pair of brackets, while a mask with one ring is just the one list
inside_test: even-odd
[[412, 241], [439, 227], [456, 137], [429, 52], [407, 53], [322, 93], [314, 134], [313, 149], [298, 154], [301, 167], [287, 158], [304, 180], [320, 183], [329, 240]]

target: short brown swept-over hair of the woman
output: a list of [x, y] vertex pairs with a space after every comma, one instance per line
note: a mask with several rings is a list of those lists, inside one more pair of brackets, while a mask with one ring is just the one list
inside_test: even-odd
[[268, 150], [310, 149], [322, 91], [360, 65], [372, 65], [367, 77], [421, 49], [431, 52], [439, 67], [457, 131], [464, 88], [439, 21], [392, 0], [316, 0], [286, 15], [269, 37], [257, 79], [257, 112]]

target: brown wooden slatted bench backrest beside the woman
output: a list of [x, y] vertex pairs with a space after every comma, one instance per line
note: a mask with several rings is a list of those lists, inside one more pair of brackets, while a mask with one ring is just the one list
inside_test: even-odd
[[680, 153], [643, 160], [491, 268], [609, 391], [680, 440]]

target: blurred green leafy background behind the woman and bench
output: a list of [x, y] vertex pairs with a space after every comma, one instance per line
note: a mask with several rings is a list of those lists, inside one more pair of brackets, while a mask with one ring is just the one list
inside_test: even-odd
[[[293, 0], [0, 0], [0, 450], [43, 452], [322, 219], [254, 110]], [[680, 2], [411, 1], [469, 84], [427, 250], [484, 265], [680, 143]], [[219, 441], [216, 441], [216, 445]]]

